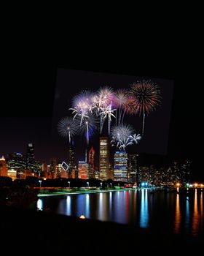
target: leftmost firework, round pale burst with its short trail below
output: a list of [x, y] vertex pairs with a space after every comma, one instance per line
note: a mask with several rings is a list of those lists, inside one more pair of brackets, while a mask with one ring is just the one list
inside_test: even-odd
[[71, 138], [76, 135], [76, 121], [70, 117], [62, 118], [58, 123], [58, 132], [64, 138], [68, 138], [68, 142], [71, 143]]

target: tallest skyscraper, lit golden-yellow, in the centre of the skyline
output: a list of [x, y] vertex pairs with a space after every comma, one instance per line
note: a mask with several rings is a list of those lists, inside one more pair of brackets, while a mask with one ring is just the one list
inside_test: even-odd
[[99, 178], [106, 180], [109, 173], [109, 139], [100, 137], [99, 142]]

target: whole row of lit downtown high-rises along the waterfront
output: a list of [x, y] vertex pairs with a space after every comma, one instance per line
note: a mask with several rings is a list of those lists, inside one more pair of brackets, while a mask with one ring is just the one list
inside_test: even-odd
[[[68, 157], [64, 161], [51, 158], [50, 163], [40, 163], [35, 159], [34, 144], [28, 143], [26, 154], [11, 153], [0, 159], [0, 176], [9, 176], [12, 180], [36, 176], [38, 178], [96, 178], [101, 181], [111, 179], [140, 184], [146, 182], [155, 185], [172, 186], [187, 183], [191, 177], [191, 163], [173, 162], [168, 166], [141, 165], [140, 155], [127, 154], [127, 151], [109, 151], [109, 138], [99, 138], [99, 152], [91, 146], [85, 153], [85, 159], [76, 162], [74, 145], [68, 146]], [[96, 162], [96, 159], [99, 159]]]

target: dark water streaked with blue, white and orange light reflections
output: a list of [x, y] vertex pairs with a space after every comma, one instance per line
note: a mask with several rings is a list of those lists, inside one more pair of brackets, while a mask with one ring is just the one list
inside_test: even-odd
[[57, 214], [119, 222], [163, 233], [204, 234], [203, 190], [154, 192], [148, 189], [41, 197], [37, 207]]

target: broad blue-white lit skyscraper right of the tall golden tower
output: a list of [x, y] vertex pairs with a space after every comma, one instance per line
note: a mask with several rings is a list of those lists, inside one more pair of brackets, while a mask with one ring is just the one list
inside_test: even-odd
[[114, 180], [127, 181], [127, 153], [116, 151], [114, 154]]

